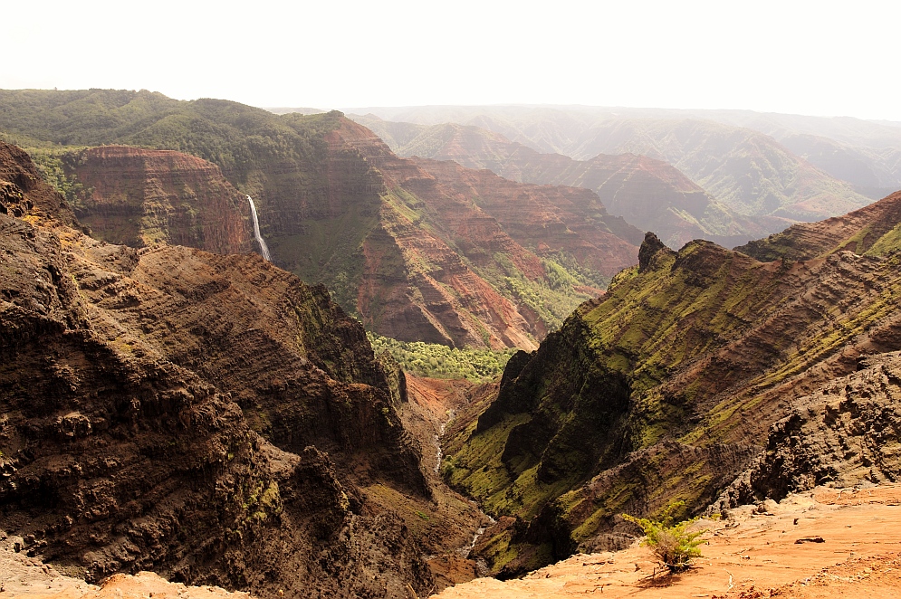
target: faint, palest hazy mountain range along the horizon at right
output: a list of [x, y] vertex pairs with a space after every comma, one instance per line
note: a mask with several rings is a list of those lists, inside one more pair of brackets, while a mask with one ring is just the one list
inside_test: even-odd
[[[844, 214], [901, 187], [901, 129], [858, 119], [589, 107], [361, 110], [368, 110], [366, 116], [354, 119], [384, 134], [404, 156], [437, 157], [442, 144], [428, 140], [424, 128], [455, 123], [498, 133], [543, 154], [588, 160], [634, 153], [664, 160], [733, 213], [772, 217], [760, 222], [771, 233], [791, 222]], [[406, 122], [407, 130], [380, 126], [378, 119]], [[420, 135], [424, 138], [417, 139]], [[432, 135], [446, 138], [446, 132]], [[477, 158], [484, 144], [464, 148], [457, 157]]]

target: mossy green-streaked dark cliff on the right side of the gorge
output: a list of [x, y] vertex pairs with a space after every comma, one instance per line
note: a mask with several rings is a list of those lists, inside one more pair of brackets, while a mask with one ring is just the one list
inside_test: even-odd
[[[461, 423], [446, 450], [452, 483], [496, 515], [522, 520], [495, 531], [495, 570], [522, 571], [576, 547], [616, 547], [622, 512], [656, 514], [675, 499], [703, 509], [751, 467], [774, 423], [813, 410], [811, 394], [822, 387], [831, 395], [826, 387], [853, 373], [858, 357], [901, 348], [894, 254], [839, 249], [760, 262], [710, 242], [672, 252], [650, 236], [639, 255], [640, 267], [618, 275], [603, 299], [583, 304], [537, 352], [511, 360], [494, 402]], [[822, 408], [828, 425], [853, 415], [843, 405]], [[814, 414], [804, 418], [817, 421]], [[820, 442], [867, 430], [850, 425]], [[891, 430], [887, 440], [896, 438]], [[768, 472], [780, 471], [772, 461], [796, 446], [794, 433], [773, 434]], [[822, 449], [806, 443], [799, 462]], [[862, 476], [848, 453], [820, 455], [829, 462], [821, 471]], [[828, 480], [816, 472], [796, 465], [785, 476]], [[887, 452], [867, 478], [899, 472], [901, 461]], [[505, 543], [519, 543], [519, 553], [496, 550]]]

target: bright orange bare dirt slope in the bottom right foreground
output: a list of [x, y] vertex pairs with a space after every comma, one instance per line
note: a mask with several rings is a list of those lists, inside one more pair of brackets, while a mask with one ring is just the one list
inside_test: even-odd
[[[702, 520], [703, 557], [663, 575], [648, 547], [581, 554], [520, 580], [480, 578], [441, 599], [901, 597], [901, 486], [818, 488]], [[810, 539], [803, 541], [802, 539]], [[822, 542], [817, 542], [822, 539]], [[801, 542], [799, 542], [801, 541]]]

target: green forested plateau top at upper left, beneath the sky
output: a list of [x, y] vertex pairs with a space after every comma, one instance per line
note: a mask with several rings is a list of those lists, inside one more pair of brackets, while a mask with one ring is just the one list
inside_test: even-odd
[[148, 90], [0, 90], [0, 131], [34, 147], [129, 146], [173, 149], [224, 171], [315, 159], [337, 111], [273, 113], [228, 100], [172, 100]]

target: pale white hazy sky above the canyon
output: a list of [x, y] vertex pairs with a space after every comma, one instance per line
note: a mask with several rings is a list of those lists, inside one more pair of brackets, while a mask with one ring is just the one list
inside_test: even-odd
[[0, 88], [254, 106], [551, 103], [901, 121], [901, 3], [6, 2]]

